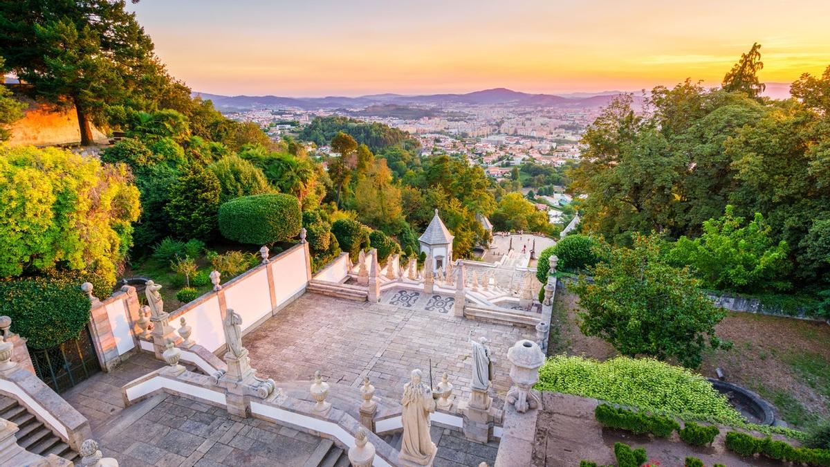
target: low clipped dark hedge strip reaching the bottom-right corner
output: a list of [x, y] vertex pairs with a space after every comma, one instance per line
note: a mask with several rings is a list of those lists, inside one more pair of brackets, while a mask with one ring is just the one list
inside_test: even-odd
[[797, 448], [784, 441], [771, 438], [756, 438], [746, 433], [730, 431], [726, 434], [726, 449], [743, 457], [760, 454], [773, 460], [815, 465], [818, 467], [830, 466], [830, 450]]

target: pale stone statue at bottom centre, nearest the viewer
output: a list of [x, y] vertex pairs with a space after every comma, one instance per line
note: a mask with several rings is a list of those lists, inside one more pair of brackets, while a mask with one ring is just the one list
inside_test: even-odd
[[435, 411], [435, 400], [421, 371], [413, 370], [412, 381], [403, 386], [403, 439], [398, 460], [403, 465], [432, 465], [437, 447], [429, 435], [429, 414]]

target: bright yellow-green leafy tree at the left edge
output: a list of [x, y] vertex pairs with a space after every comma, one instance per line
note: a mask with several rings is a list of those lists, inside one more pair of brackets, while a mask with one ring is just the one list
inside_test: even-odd
[[0, 197], [0, 278], [62, 268], [115, 283], [139, 217], [126, 165], [0, 145]]

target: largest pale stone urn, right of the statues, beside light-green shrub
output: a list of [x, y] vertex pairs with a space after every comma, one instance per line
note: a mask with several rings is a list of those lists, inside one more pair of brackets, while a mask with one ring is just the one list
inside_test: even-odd
[[539, 381], [539, 368], [544, 364], [544, 353], [539, 344], [527, 339], [516, 342], [507, 351], [510, 361], [510, 380], [513, 386], [507, 393], [507, 403], [513, 404], [519, 412], [535, 409], [540, 405], [539, 394], [533, 385]]

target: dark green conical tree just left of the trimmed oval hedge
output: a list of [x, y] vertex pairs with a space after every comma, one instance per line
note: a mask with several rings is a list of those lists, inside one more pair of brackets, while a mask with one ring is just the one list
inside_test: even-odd
[[222, 185], [212, 171], [191, 164], [170, 186], [170, 200], [164, 210], [170, 216], [170, 230], [178, 238], [207, 240], [217, 227], [217, 209]]

